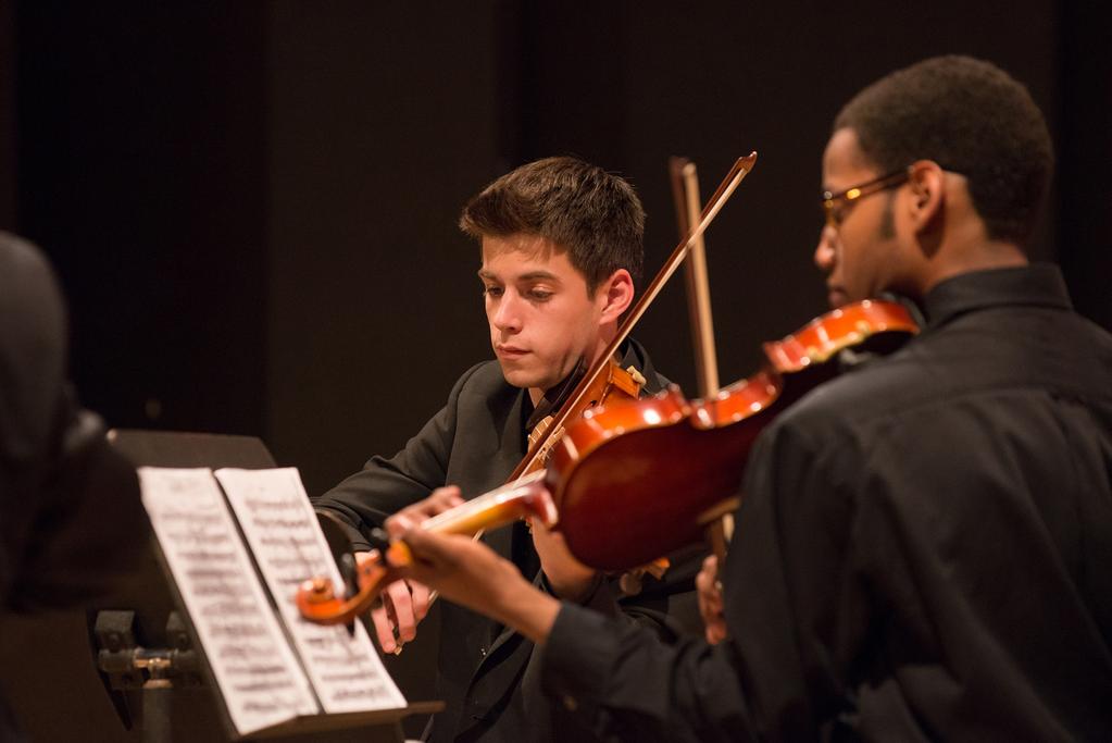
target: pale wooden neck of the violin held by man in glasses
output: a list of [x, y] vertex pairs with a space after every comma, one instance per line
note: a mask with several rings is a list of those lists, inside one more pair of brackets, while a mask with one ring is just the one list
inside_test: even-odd
[[536, 518], [552, 528], [556, 525], [556, 505], [545, 487], [546, 474], [542, 469], [471, 498], [426, 519], [421, 528], [438, 534], [473, 535], [518, 518]]

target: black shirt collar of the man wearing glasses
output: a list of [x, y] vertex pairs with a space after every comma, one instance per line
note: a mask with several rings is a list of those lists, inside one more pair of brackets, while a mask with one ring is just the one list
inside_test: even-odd
[[1005, 305], [1072, 309], [1062, 273], [1052, 264], [961, 274], [937, 284], [923, 299], [927, 327], [969, 311]]

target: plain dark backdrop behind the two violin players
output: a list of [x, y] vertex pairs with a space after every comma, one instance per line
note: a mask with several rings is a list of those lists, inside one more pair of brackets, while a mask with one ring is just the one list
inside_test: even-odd
[[[990, 59], [1050, 121], [1033, 252], [1112, 326], [1112, 32], [1099, 3], [0, 4], [0, 227], [70, 301], [72, 370], [118, 427], [261, 436], [319, 493], [393, 453], [490, 356], [455, 222], [510, 168], [579, 155], [636, 186], [652, 274], [667, 157], [704, 196], [724, 383], [824, 309], [811, 264], [840, 106], [924, 57]], [[683, 283], [637, 336], [693, 389]], [[1022, 329], [1017, 329], [1022, 331]]]

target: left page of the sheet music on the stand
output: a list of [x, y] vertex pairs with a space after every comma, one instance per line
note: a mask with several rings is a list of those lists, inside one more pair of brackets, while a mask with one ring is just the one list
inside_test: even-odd
[[317, 714], [212, 472], [140, 467], [139, 482], [236, 730]]

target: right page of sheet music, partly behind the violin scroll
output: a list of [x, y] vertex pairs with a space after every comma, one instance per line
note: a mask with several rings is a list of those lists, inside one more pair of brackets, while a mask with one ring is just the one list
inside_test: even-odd
[[294, 596], [306, 578], [327, 575], [340, 585], [339, 569], [297, 469], [219, 469], [216, 477], [228, 495], [325, 711], [404, 707], [405, 697], [360, 622], [355, 623], [355, 634], [349, 635], [342, 625], [312, 624], [297, 611]]

